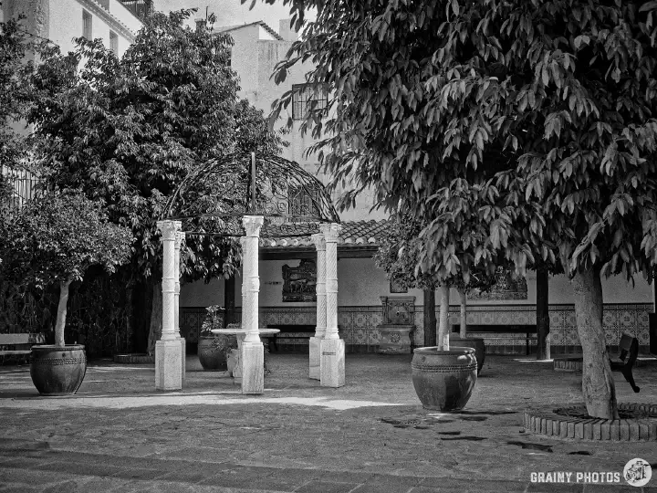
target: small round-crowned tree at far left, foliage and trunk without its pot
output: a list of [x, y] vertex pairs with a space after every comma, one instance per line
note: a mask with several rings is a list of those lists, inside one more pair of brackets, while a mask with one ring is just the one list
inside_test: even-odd
[[108, 222], [101, 205], [82, 194], [46, 194], [6, 225], [0, 272], [14, 282], [47, 288], [59, 284], [55, 343], [64, 346], [68, 291], [94, 265], [113, 272], [130, 258], [130, 229]]

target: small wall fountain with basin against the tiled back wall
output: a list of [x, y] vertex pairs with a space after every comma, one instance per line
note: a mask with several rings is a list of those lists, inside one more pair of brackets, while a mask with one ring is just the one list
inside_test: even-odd
[[383, 323], [379, 329], [381, 354], [410, 354], [414, 296], [381, 296]]

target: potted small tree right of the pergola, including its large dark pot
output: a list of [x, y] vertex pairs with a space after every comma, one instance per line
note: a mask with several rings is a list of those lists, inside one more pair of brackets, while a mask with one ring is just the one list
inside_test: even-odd
[[494, 236], [501, 233], [499, 228], [482, 226], [480, 215], [490, 200], [485, 190], [485, 183], [464, 179], [439, 189], [427, 204], [434, 212], [433, 221], [422, 228], [415, 244], [418, 272], [432, 276], [441, 287], [438, 344], [415, 350], [412, 360], [415, 392], [428, 409], [463, 408], [477, 380], [474, 348], [463, 342], [463, 347], [450, 345], [448, 312], [450, 287], [485, 285], [495, 277], [498, 258], [493, 245], [499, 238]]

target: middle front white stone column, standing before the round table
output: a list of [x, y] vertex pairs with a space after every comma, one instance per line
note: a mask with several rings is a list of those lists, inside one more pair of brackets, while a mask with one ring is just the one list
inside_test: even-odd
[[242, 393], [263, 393], [265, 390], [265, 348], [258, 333], [258, 236], [263, 225], [261, 215], [246, 215], [242, 219], [246, 236], [242, 243]]

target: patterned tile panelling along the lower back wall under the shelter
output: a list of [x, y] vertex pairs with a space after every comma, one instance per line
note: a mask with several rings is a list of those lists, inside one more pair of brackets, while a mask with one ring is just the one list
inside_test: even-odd
[[[610, 346], [617, 345], [623, 332], [630, 333], [639, 340], [641, 351], [647, 352], [650, 343], [648, 313], [652, 312], [652, 304], [607, 304], [604, 306], [602, 323], [605, 337]], [[198, 339], [198, 330], [203, 321], [203, 308], [181, 308], [181, 331], [183, 336], [191, 341]], [[311, 325], [316, 323], [314, 306], [308, 307], [261, 307], [260, 325], [298, 324]], [[424, 329], [422, 324], [422, 306], [416, 306], [413, 314], [415, 327], [412, 341], [422, 345]], [[235, 321], [241, 320], [241, 314], [235, 313]], [[450, 307], [450, 324], [459, 323], [459, 307]], [[381, 306], [339, 307], [338, 324], [341, 327], [347, 351], [374, 352], [379, 348], [379, 330], [382, 322]], [[489, 325], [526, 325], [536, 323], [536, 307], [534, 305], [471, 305], [468, 307], [467, 322], [469, 324]], [[196, 334], [195, 338], [194, 335]], [[473, 334], [474, 335], [474, 334]], [[305, 351], [307, 340], [290, 341], [299, 351]], [[486, 347], [491, 353], [512, 352], [525, 353], [524, 340], [490, 340]], [[550, 344], [555, 353], [579, 351], [579, 337], [575, 323], [575, 308], [573, 305], [550, 305]], [[509, 346], [514, 346], [509, 350]], [[517, 346], [517, 348], [515, 348]], [[535, 348], [535, 343], [532, 344]]]

